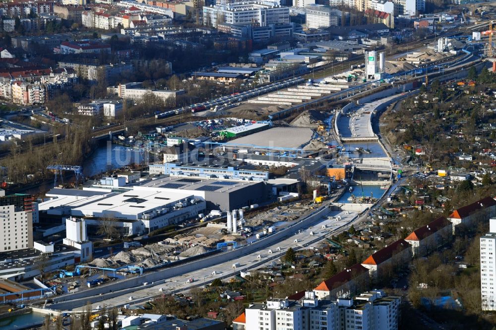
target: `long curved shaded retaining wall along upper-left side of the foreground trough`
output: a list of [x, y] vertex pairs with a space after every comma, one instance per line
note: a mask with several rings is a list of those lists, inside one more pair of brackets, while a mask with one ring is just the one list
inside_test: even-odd
[[[310, 215], [304, 219], [298, 221], [297, 223], [284, 228], [276, 233], [264, 237], [255, 242], [239, 247], [235, 250], [230, 250], [227, 252], [219, 253], [205, 259], [196, 260], [194, 262], [186, 263], [180, 266], [166, 268], [153, 273], [145, 273], [142, 276], [132, 277], [120, 281], [110, 282], [108, 284], [97, 286], [95, 288], [89, 288], [87, 290], [74, 292], [70, 294], [61, 295], [53, 298], [54, 304], [50, 305], [52, 309], [63, 309], [70, 310], [76, 307], [84, 306], [87, 302], [95, 303], [102, 300], [111, 299], [114, 297], [129, 294], [136, 290], [136, 287], [147, 288], [155, 286], [165, 282], [165, 279], [174, 277], [177, 275], [183, 275], [189, 272], [197, 271], [199, 269], [211, 267], [213, 265], [228, 262], [230, 260], [237, 259], [241, 256], [245, 256], [254, 251], [263, 249], [269, 245], [281, 241], [291, 235], [298, 229], [309, 226], [313, 221], [323, 217], [330, 211], [328, 206], [323, 206], [312, 212]], [[143, 285], [144, 282], [149, 284]], [[152, 283], [153, 282], [153, 283]]]

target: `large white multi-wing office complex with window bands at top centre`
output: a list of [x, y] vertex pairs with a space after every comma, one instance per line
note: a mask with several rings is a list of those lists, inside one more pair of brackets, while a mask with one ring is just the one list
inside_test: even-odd
[[289, 7], [282, 7], [278, 1], [266, 0], [204, 6], [203, 23], [213, 27], [217, 27], [218, 23], [289, 24]]

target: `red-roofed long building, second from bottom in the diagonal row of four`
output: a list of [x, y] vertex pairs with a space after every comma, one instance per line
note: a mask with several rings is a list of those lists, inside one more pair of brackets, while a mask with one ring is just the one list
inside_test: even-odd
[[399, 239], [372, 254], [362, 262], [362, 266], [369, 270], [372, 277], [381, 277], [382, 274], [407, 264], [411, 259], [410, 248], [408, 242]]

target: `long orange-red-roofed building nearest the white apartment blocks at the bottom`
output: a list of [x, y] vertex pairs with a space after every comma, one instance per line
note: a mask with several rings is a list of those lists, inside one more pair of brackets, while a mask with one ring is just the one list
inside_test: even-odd
[[340, 291], [350, 291], [357, 293], [365, 288], [369, 282], [369, 272], [366, 267], [360, 264], [355, 264], [349, 269], [322, 281], [313, 291], [319, 299], [329, 297], [336, 298], [336, 294]]

